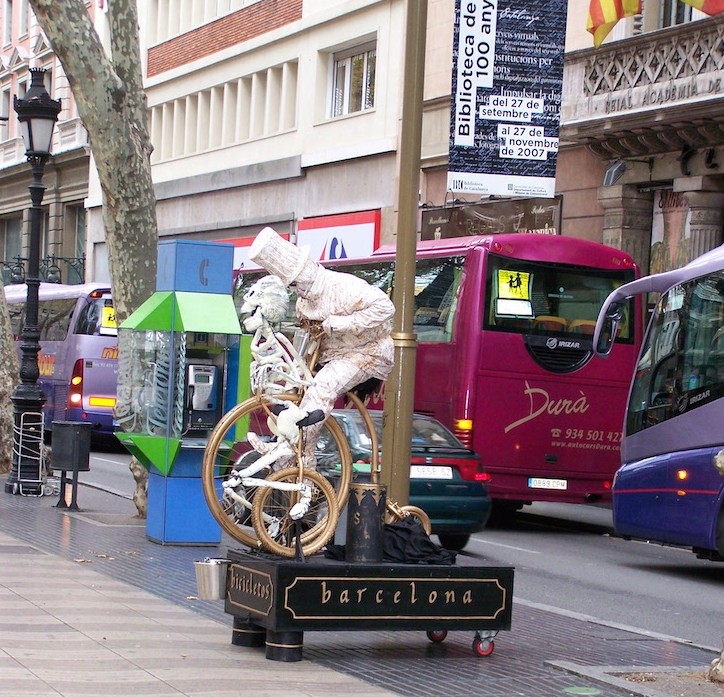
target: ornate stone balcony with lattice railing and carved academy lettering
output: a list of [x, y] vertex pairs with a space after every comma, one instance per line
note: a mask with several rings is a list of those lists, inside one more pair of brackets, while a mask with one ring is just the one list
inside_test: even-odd
[[566, 54], [561, 143], [602, 157], [724, 143], [724, 15]]

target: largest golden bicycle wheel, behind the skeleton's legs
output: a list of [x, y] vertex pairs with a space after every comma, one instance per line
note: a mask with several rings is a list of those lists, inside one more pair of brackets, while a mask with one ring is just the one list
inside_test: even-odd
[[[277, 399], [297, 401], [299, 398], [296, 394], [285, 394]], [[258, 457], [258, 453], [246, 442], [246, 434], [249, 431], [262, 436], [269, 434], [269, 405], [266, 396], [258, 395], [224, 414], [209, 436], [201, 465], [204, 497], [214, 519], [234, 540], [252, 549], [260, 546], [251, 520], [251, 509], [260, 487], [247, 487], [243, 492], [247, 503], [243, 503], [237, 492], [228, 486], [228, 480], [232, 470], [242, 469]], [[331, 417], [325, 422], [319, 439], [327, 444], [326, 459], [319, 463], [319, 468], [333, 482], [339, 510], [347, 503], [352, 481], [349, 443], [340, 425]], [[269, 474], [265, 470], [255, 477], [263, 479]], [[224, 482], [227, 482], [226, 487]]]

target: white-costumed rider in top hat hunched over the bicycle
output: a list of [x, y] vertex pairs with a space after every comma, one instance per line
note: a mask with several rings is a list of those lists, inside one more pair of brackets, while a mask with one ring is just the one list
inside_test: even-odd
[[[387, 378], [394, 360], [390, 320], [395, 307], [382, 290], [325, 269], [268, 227], [257, 235], [249, 257], [285, 286], [294, 284], [298, 319], [319, 322], [324, 330], [322, 367], [299, 404], [305, 415], [319, 409], [326, 417], [345, 392], [370, 378]], [[314, 445], [321, 427], [322, 422], [307, 427], [305, 466], [316, 466]]]

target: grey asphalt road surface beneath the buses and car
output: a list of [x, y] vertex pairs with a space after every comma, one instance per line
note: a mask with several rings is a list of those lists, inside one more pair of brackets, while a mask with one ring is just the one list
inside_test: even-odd
[[[80, 481], [130, 499], [129, 460], [95, 449]], [[476, 534], [464, 554], [515, 566], [515, 601], [721, 648], [724, 563], [620, 539], [605, 507], [527, 506], [514, 524]]]

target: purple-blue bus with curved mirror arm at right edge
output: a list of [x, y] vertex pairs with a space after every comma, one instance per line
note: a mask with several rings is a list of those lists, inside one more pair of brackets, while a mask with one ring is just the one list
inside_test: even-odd
[[596, 326], [599, 355], [621, 303], [645, 293], [660, 296], [631, 383], [614, 528], [724, 561], [724, 246], [612, 293]]

